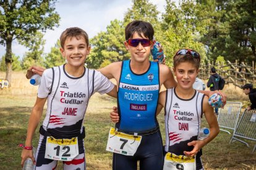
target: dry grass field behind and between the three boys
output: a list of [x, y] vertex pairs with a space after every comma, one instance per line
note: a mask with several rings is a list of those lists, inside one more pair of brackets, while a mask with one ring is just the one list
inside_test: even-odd
[[[0, 72], [0, 78], [4, 78], [4, 75]], [[12, 87], [0, 90], [0, 169], [21, 169], [22, 149], [17, 145], [25, 142], [28, 118], [36, 99], [36, 89], [37, 87], [31, 86], [25, 79], [25, 72], [14, 72]], [[234, 90], [234, 87], [224, 89], [228, 94], [228, 100], [247, 100], [247, 96], [239, 90]], [[84, 122], [87, 169], [111, 169], [112, 154], [106, 152], [105, 148], [109, 128], [114, 126], [109, 119], [109, 112], [113, 106], [116, 106], [116, 99], [111, 99], [108, 95], [95, 94], [90, 99]], [[158, 121], [165, 139], [163, 113], [158, 116]], [[205, 119], [203, 125], [206, 126]], [[38, 136], [36, 133], [33, 139], [35, 146]], [[252, 153], [255, 142], [246, 140], [250, 145], [248, 148], [241, 142], [229, 144], [230, 138], [231, 135], [228, 133], [220, 132], [203, 148], [202, 160], [205, 169], [256, 169], [256, 152]], [[58, 169], [62, 169], [61, 164], [58, 164]]]

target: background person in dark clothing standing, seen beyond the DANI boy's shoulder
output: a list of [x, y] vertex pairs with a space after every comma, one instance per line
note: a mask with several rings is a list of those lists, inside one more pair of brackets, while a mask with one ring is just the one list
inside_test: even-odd
[[[210, 87], [210, 91], [218, 91], [220, 83], [220, 75], [216, 73], [216, 69], [214, 67], [211, 68], [211, 76], [207, 82], [207, 87]], [[218, 115], [218, 108], [215, 108], [215, 114]]]

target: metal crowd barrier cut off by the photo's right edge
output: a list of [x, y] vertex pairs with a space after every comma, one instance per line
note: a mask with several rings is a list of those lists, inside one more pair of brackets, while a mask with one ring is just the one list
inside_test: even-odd
[[[242, 113], [241, 119], [239, 120], [239, 123], [237, 124], [233, 136], [229, 142], [229, 144], [231, 144], [231, 142], [238, 140], [249, 147], [247, 142], [238, 139], [237, 137], [256, 141], [256, 110], [245, 110], [244, 113]], [[252, 152], [254, 152], [255, 149], [256, 144]]]

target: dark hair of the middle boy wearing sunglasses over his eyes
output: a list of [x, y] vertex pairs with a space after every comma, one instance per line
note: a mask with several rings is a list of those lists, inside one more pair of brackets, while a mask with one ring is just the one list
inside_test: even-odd
[[126, 40], [132, 38], [135, 32], [137, 32], [141, 37], [143, 34], [146, 38], [150, 40], [153, 40], [153, 36], [155, 33], [151, 23], [141, 20], [134, 20], [133, 22], [128, 23], [125, 30]]

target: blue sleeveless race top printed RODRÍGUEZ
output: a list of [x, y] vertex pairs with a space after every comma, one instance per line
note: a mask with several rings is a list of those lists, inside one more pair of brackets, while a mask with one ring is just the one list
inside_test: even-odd
[[122, 62], [117, 92], [119, 123], [123, 132], [147, 132], [158, 127], [156, 107], [160, 89], [159, 66], [150, 62], [148, 70], [140, 75], [130, 69], [130, 60]]

